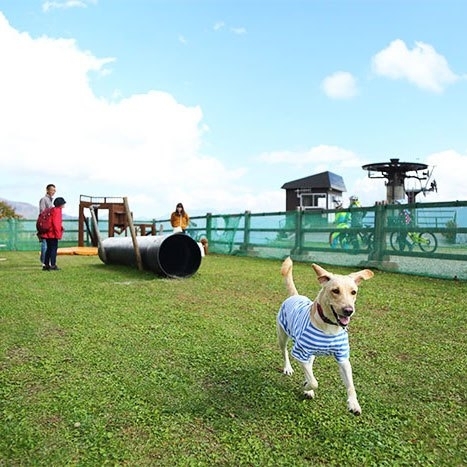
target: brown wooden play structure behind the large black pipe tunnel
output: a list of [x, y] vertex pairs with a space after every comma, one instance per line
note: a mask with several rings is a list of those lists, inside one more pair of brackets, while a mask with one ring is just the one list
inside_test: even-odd
[[[86, 217], [85, 210], [87, 209], [91, 212], [91, 217], [95, 217], [95, 222], [91, 222], [90, 218]], [[108, 211], [108, 237], [114, 237], [115, 235], [122, 234], [127, 236], [130, 227], [134, 227], [135, 233], [142, 236], [156, 235], [155, 223], [133, 224], [133, 214], [130, 212], [128, 202], [125, 197], [80, 195], [78, 246], [85, 246], [85, 231], [91, 239], [92, 246], [98, 246], [99, 233], [96, 231], [95, 225], [99, 222], [99, 212], [102, 210]]]

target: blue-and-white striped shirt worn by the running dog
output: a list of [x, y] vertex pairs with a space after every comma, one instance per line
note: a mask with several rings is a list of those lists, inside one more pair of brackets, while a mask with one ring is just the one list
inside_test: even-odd
[[293, 295], [282, 303], [279, 310], [279, 324], [294, 341], [292, 356], [303, 363], [313, 355], [332, 355], [338, 362], [349, 358], [347, 331], [341, 329], [337, 334], [325, 334], [313, 326], [310, 319], [312, 304], [308, 297]]

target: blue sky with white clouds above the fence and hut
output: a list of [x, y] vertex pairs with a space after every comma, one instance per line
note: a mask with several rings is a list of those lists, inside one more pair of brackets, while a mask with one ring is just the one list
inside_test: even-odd
[[398, 158], [436, 180], [418, 202], [467, 200], [466, 20], [465, 0], [0, 0], [0, 197], [278, 212], [330, 171], [371, 206], [362, 165]]

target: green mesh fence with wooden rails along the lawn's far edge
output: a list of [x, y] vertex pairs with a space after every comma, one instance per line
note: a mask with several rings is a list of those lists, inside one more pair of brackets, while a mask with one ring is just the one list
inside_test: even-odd
[[[158, 232], [172, 233], [168, 219], [151, 222]], [[65, 221], [65, 229], [60, 245], [77, 245], [78, 221]], [[107, 232], [101, 221], [100, 230]], [[278, 260], [291, 255], [304, 262], [467, 279], [467, 201], [207, 214], [193, 217], [187, 234], [206, 238], [210, 253]], [[0, 244], [38, 250], [35, 220], [1, 220]]]

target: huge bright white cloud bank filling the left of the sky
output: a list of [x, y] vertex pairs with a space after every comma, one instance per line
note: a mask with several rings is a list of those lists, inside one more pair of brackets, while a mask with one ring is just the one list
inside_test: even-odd
[[112, 58], [73, 40], [20, 34], [1, 14], [0, 42], [5, 198], [35, 202], [55, 183], [68, 214], [77, 213], [80, 194], [128, 196], [140, 218], [168, 215], [178, 201], [218, 212], [237, 211], [243, 201], [260, 209], [254, 193], [238, 186], [245, 169], [201, 153], [209, 128], [200, 107], [157, 91], [98, 98], [90, 76]]

